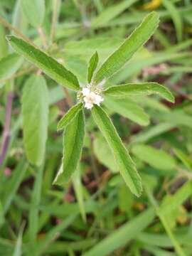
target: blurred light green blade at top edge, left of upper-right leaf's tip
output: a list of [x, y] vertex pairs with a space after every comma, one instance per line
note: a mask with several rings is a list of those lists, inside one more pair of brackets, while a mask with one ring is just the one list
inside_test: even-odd
[[106, 25], [109, 21], [113, 20], [116, 16], [121, 14], [129, 6], [137, 2], [137, 0], [125, 0], [119, 2], [119, 4], [114, 4], [109, 8], [102, 11], [97, 17], [93, 18], [91, 21], [91, 26], [94, 28]]

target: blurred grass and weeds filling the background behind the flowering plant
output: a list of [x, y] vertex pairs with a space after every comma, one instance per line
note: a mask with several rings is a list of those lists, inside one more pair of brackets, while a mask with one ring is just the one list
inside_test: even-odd
[[[191, 1], [33, 3], [0, 1], [0, 255], [192, 255]], [[95, 50], [101, 64], [153, 10], [160, 16], [159, 28], [110, 82], [159, 82], [169, 87], [176, 103], [134, 97], [109, 101], [106, 108], [142, 176], [142, 196], [133, 196], [122, 181], [89, 114], [78, 170], [64, 187], [53, 185], [63, 151], [57, 123], [76, 96], [46, 75], [34, 80], [41, 71], [13, 53], [5, 35], [46, 50], [85, 85]], [[48, 139], [46, 154], [38, 152], [45, 156], [41, 166], [29, 163], [23, 145], [21, 102], [28, 78], [33, 86], [41, 85], [39, 90], [45, 81], [48, 85], [42, 105], [48, 102], [49, 118], [41, 124], [48, 124]], [[32, 95], [28, 112], [39, 93]]]

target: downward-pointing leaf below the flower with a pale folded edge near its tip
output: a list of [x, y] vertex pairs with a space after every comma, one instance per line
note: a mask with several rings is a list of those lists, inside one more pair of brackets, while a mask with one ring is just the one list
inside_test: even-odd
[[82, 110], [65, 128], [63, 134], [63, 164], [55, 178], [54, 183], [62, 185], [68, 182], [70, 176], [77, 169], [82, 152], [85, 135], [85, 117]]

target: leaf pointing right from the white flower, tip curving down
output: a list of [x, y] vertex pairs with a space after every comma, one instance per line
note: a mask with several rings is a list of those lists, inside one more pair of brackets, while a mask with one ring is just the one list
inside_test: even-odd
[[105, 90], [103, 94], [119, 98], [157, 94], [169, 102], [174, 102], [174, 96], [169, 89], [159, 85], [157, 82], [128, 83], [126, 85], [112, 86]]

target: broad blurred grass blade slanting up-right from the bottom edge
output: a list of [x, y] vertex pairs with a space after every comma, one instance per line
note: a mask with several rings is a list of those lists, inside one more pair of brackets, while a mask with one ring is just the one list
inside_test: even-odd
[[137, 217], [129, 220], [128, 223], [122, 225], [122, 227], [114, 230], [112, 234], [98, 242], [88, 252], [85, 252], [83, 256], [111, 255], [110, 252], [124, 247], [130, 240], [137, 238], [137, 235], [154, 220], [154, 217], [154, 209], [149, 208], [145, 210], [137, 215]]

